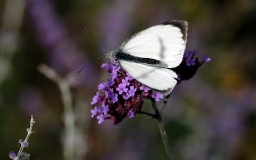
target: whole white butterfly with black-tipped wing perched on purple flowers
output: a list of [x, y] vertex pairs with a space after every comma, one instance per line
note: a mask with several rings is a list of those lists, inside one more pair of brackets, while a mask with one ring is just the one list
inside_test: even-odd
[[170, 68], [180, 65], [187, 42], [187, 21], [172, 20], [149, 27], [107, 53], [138, 82], [164, 94], [177, 84]]

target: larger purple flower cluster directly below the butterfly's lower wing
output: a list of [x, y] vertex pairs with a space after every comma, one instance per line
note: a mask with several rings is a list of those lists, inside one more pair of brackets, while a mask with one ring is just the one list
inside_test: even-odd
[[103, 63], [101, 68], [108, 71], [110, 78], [98, 85], [99, 91], [91, 102], [91, 105], [100, 106], [91, 109], [91, 117], [95, 116], [99, 124], [105, 119], [111, 119], [114, 124], [118, 124], [126, 116], [133, 118], [135, 113], [141, 110], [142, 98], [156, 101], [163, 98], [163, 94], [152, 91], [136, 81], [113, 60]]

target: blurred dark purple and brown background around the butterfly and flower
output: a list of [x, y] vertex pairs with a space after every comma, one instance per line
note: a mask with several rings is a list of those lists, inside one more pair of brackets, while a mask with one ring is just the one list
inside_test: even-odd
[[[18, 152], [30, 115], [31, 159], [63, 159], [63, 103], [44, 63], [71, 86], [75, 159], [166, 159], [157, 123], [137, 115], [118, 125], [90, 116], [103, 58], [131, 34], [163, 21], [188, 21], [187, 50], [212, 61], [175, 87], [164, 123], [177, 159], [256, 159], [256, 2], [157, 0], [0, 1], [0, 159]], [[161, 103], [158, 106], [162, 106]], [[151, 111], [145, 102], [143, 110]]]

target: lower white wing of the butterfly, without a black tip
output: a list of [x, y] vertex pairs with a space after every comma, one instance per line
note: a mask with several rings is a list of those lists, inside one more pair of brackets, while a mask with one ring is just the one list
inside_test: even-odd
[[164, 94], [169, 94], [177, 84], [177, 74], [167, 68], [159, 68], [131, 61], [118, 60], [119, 65], [138, 82]]

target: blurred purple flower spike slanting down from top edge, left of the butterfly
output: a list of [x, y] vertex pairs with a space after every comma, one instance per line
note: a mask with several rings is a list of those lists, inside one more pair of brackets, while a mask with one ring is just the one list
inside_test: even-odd
[[[81, 69], [89, 62], [81, 47], [69, 36], [64, 21], [56, 14], [52, 3], [50, 0], [26, 1], [26, 11], [33, 22], [30, 26], [34, 28], [30, 29], [35, 30], [35, 37], [38, 37], [49, 54], [50, 66], [61, 74], [67, 74]], [[79, 75], [72, 77], [72, 85], [91, 85], [97, 70], [90, 65]]]

